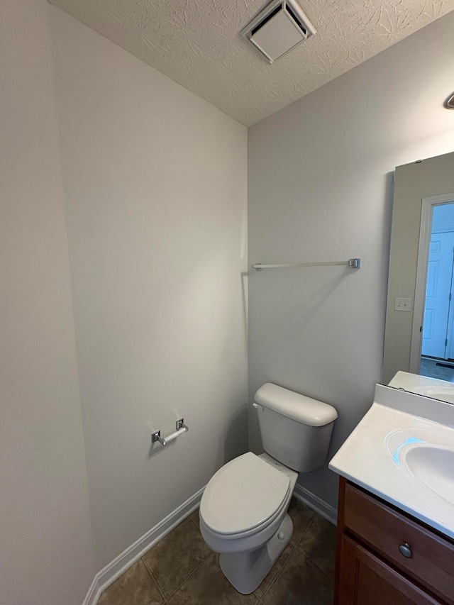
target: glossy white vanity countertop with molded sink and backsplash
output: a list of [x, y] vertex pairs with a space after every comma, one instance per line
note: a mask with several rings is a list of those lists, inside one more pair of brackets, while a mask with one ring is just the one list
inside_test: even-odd
[[454, 465], [420, 472], [421, 452], [435, 453], [437, 465], [454, 460], [454, 405], [377, 384], [372, 407], [329, 467], [454, 538]]

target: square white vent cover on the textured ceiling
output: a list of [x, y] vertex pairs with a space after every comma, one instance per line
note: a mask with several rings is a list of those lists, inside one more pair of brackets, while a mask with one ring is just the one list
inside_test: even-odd
[[294, 0], [274, 0], [241, 35], [273, 63], [314, 33], [316, 28]]

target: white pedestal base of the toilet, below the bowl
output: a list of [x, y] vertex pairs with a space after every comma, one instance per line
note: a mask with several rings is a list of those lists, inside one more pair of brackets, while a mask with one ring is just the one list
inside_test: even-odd
[[279, 529], [271, 540], [257, 550], [246, 553], [223, 553], [219, 565], [233, 588], [241, 594], [250, 594], [260, 586], [270, 572], [277, 557], [282, 553], [293, 535], [293, 523], [285, 514]]

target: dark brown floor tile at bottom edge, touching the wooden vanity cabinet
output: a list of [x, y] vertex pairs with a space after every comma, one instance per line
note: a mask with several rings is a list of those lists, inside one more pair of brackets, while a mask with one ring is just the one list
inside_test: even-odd
[[262, 601], [265, 605], [332, 605], [334, 582], [294, 549]]

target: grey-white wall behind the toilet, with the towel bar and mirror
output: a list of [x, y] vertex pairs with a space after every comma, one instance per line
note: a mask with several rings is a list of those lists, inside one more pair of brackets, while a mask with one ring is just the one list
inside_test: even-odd
[[[330, 455], [380, 381], [394, 167], [454, 148], [453, 28], [450, 13], [249, 129], [250, 265], [362, 257], [249, 278], [250, 400], [270, 381], [336, 406]], [[327, 468], [299, 483], [336, 503]]]

